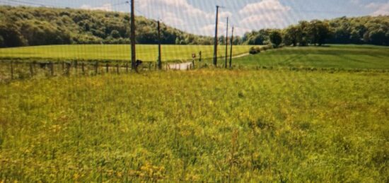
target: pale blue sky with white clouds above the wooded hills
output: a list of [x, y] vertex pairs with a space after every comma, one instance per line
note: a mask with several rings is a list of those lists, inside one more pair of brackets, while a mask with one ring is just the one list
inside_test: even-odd
[[[0, 0], [12, 6], [48, 6], [129, 12], [129, 0]], [[389, 15], [389, 0], [135, 0], [135, 13], [197, 35], [214, 35], [216, 5], [219, 34], [226, 19], [235, 35], [262, 28], [286, 28], [300, 20]], [[231, 34], [231, 33], [229, 33]]]

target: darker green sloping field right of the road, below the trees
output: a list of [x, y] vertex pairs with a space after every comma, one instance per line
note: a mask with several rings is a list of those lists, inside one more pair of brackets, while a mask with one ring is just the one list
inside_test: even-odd
[[389, 47], [370, 45], [284, 47], [234, 59], [233, 64], [288, 68], [389, 69]]

